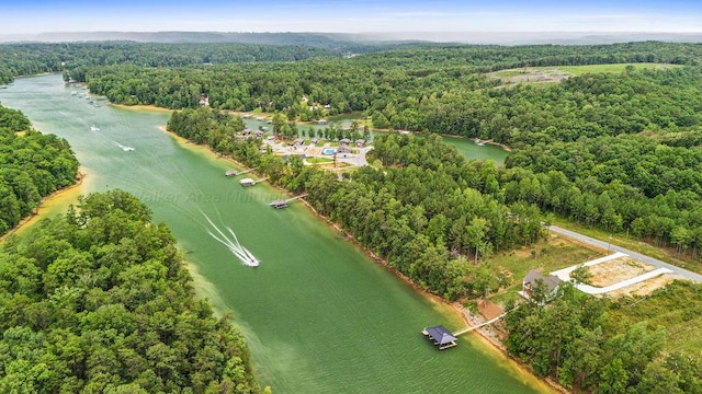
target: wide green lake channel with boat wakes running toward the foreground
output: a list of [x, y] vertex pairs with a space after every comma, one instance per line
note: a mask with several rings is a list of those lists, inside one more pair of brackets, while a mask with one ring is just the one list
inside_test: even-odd
[[[233, 312], [259, 381], [274, 393], [547, 390], [474, 334], [437, 350], [420, 331], [460, 328], [454, 311], [374, 263], [303, 204], [271, 209], [280, 192], [225, 177], [226, 161], [159, 129], [169, 113], [93, 107], [75, 90], [60, 76], [23, 78], [0, 90], [0, 102], [71, 143], [87, 174], [82, 193], [127, 190], [172, 229], [199, 274], [199, 293]], [[241, 265], [214, 240], [205, 216], [225, 233], [231, 228], [260, 267]]]

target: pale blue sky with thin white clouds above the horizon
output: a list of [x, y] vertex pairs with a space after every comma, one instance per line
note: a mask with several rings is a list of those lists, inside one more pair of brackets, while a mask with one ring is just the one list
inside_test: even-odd
[[0, 34], [48, 32], [702, 33], [702, 0], [10, 0]]

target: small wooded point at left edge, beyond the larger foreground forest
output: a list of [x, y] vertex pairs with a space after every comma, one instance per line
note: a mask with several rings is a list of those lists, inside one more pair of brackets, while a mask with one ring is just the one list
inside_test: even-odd
[[32, 129], [19, 111], [0, 106], [0, 235], [42, 198], [76, 182], [78, 160], [68, 142]]

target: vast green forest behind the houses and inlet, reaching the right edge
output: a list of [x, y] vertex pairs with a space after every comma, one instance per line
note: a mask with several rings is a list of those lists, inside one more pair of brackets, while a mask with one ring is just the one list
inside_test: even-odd
[[[512, 147], [510, 172], [477, 187], [698, 258], [702, 58], [699, 45], [443, 46], [351, 59], [215, 68], [95, 68], [110, 100], [171, 108], [271, 112], [290, 121], [364, 112], [374, 127], [490, 139]], [[534, 65], [661, 61], [561, 83], [517, 84], [483, 71]], [[303, 99], [304, 97], [304, 99]], [[329, 109], [310, 103], [324, 103]], [[518, 169], [526, 171], [518, 171]]]

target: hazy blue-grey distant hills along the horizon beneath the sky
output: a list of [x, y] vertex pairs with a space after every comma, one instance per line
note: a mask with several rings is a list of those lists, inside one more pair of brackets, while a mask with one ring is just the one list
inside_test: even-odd
[[642, 40], [702, 43], [702, 33], [608, 33], [608, 32], [446, 32], [446, 33], [227, 33], [227, 32], [61, 32], [34, 35], [0, 35], [0, 43], [132, 40], [139, 43], [240, 43], [305, 45], [339, 49], [354, 45], [405, 42], [462, 44], [613, 44]]

